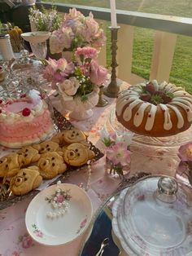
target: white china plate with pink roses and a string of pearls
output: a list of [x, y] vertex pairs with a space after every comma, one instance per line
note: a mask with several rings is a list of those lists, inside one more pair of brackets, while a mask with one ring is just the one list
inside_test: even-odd
[[[58, 188], [59, 193], [56, 192]], [[66, 201], [68, 209], [62, 205]], [[91, 201], [82, 188], [61, 183], [46, 188], [33, 198], [28, 205], [25, 224], [29, 235], [38, 243], [64, 245], [85, 232], [92, 213]]]

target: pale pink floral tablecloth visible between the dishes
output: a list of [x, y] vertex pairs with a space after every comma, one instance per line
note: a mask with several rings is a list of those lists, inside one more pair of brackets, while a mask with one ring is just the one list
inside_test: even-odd
[[[126, 85], [123, 85], [126, 86]], [[100, 140], [99, 131], [103, 127], [107, 127], [107, 120], [111, 109], [115, 106], [115, 99], [108, 99], [109, 104], [104, 108], [94, 108], [94, 116], [85, 121], [70, 120], [74, 126], [81, 130], [89, 132], [89, 140], [101, 150], [103, 150], [103, 143]], [[63, 112], [59, 97], [52, 96], [53, 105], [58, 108], [60, 113]], [[107, 127], [110, 130], [110, 127]], [[152, 149], [153, 150], [153, 149]], [[0, 148], [1, 156], [10, 152], [7, 148]], [[164, 152], [161, 152], [159, 157], [151, 157], [151, 155], [139, 154], [134, 152], [132, 155], [131, 174], [137, 171], [148, 171], [151, 173], [171, 174], [177, 166], [177, 157], [164, 157]], [[105, 157], [92, 165], [92, 172], [89, 179], [89, 172], [87, 168], [82, 168], [73, 171], [69, 174], [63, 182], [74, 183], [79, 186], [87, 188], [89, 186], [88, 194], [91, 198], [94, 213], [101, 205], [102, 201], [110, 196], [120, 183], [120, 179], [114, 179], [105, 171]], [[160, 166], [160, 169], [159, 169]], [[89, 180], [89, 184], [88, 184]], [[4, 210], [0, 210], [0, 255], [1, 256], [76, 256], [80, 249], [84, 236], [65, 246], [43, 246], [33, 241], [25, 227], [25, 211], [28, 207], [32, 197], [29, 196], [24, 201], [21, 201]], [[1, 202], [0, 202], [1, 204]], [[88, 255], [91, 256], [91, 255]]]

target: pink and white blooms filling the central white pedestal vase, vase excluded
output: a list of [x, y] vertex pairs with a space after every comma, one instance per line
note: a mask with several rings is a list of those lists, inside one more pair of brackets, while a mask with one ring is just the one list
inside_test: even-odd
[[64, 58], [47, 61], [44, 77], [58, 88], [65, 100], [79, 96], [82, 101], [107, 80], [107, 69], [97, 61], [97, 50], [92, 47], [77, 48], [72, 62]]

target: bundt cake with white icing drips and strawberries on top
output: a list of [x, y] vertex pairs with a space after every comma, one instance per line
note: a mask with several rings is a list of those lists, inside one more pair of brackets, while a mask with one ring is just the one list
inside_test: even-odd
[[140, 135], [176, 135], [190, 128], [192, 95], [168, 82], [141, 83], [120, 92], [116, 117], [124, 127]]

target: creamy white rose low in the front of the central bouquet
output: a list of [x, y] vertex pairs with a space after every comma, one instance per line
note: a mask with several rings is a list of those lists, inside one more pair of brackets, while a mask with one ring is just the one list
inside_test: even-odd
[[61, 94], [63, 95], [75, 95], [76, 91], [78, 90], [80, 86], [80, 83], [78, 82], [78, 80], [76, 79], [76, 77], [70, 77], [69, 79], [66, 79], [64, 82], [59, 83], [59, 91], [61, 92]]

